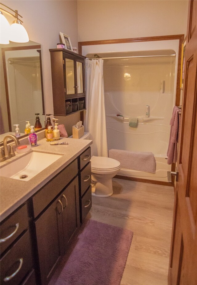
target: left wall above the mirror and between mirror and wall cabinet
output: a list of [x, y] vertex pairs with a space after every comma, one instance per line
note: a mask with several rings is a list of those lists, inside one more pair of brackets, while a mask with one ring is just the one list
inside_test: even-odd
[[[29, 39], [41, 44], [45, 111], [46, 113], [53, 114], [49, 49], [56, 48], [57, 43], [60, 42], [59, 32], [69, 35], [72, 46], [78, 46], [77, 1], [4, 0], [3, 4], [13, 10], [18, 10], [18, 13], [23, 17], [23, 25], [28, 32]], [[13, 21], [11, 17], [9, 19], [6, 16], [6, 18], [9, 22]], [[69, 117], [61, 117], [62, 120], [60, 123], [63, 120], [68, 122]]]

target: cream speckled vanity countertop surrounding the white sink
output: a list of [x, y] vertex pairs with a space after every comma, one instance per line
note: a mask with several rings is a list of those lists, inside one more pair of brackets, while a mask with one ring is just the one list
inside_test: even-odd
[[[46, 167], [29, 181], [21, 181], [2, 176], [0, 177], [0, 221], [4, 220], [10, 213], [17, 209], [22, 203], [30, 198], [92, 144], [91, 140], [74, 138], [60, 138], [58, 142], [68, 142], [68, 145], [50, 145], [49, 142], [46, 142], [46, 138], [43, 138], [38, 141], [37, 147], [31, 148], [30, 151], [54, 153], [62, 155], [62, 157], [52, 163], [49, 167]], [[3, 161], [1, 163], [1, 167], [15, 159], [18, 159], [22, 155], [28, 154], [29, 152], [20, 154], [17, 152], [15, 153], [16, 156]]]

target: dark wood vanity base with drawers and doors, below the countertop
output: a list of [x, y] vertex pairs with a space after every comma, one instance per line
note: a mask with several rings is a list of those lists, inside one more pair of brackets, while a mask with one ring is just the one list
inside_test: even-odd
[[1, 284], [49, 282], [91, 208], [90, 157], [89, 147], [2, 221]]

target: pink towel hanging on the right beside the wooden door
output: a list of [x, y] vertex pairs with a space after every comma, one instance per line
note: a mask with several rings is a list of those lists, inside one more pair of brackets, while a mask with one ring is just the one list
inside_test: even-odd
[[180, 109], [175, 106], [172, 112], [172, 118], [170, 120], [170, 139], [167, 150], [167, 164], [176, 163], [177, 161], [177, 142], [179, 137], [179, 112]]

